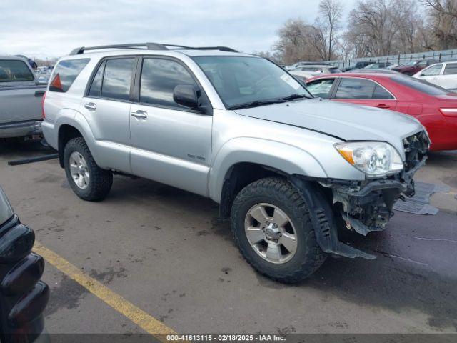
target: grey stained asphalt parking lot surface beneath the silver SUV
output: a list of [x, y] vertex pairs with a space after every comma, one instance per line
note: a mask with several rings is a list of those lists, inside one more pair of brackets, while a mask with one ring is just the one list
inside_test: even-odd
[[[144, 179], [115, 177], [104, 202], [83, 202], [58, 161], [8, 166], [46, 154], [0, 146], [0, 184], [22, 222], [59, 261], [176, 332], [457, 332], [457, 152], [432, 154], [418, 180], [447, 184], [436, 216], [397, 212], [385, 232], [350, 236], [375, 261], [328, 258], [288, 286], [261, 277], [233, 246], [228, 222], [202, 197]], [[48, 261], [51, 333], [144, 332]]]

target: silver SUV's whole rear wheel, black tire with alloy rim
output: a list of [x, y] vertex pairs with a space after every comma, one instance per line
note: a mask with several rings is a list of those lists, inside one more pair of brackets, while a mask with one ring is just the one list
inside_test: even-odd
[[82, 137], [71, 139], [66, 144], [64, 166], [71, 189], [81, 199], [98, 201], [111, 190], [113, 173], [97, 166]]

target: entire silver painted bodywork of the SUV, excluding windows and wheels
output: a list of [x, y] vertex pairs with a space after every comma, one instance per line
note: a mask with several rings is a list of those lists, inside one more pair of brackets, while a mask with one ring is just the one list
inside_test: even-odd
[[[186, 64], [204, 88], [214, 111], [212, 116], [206, 116], [109, 100], [116, 109], [116, 117], [130, 122], [133, 138], [126, 143], [126, 127], [107, 124], [106, 120], [113, 120], [108, 112], [101, 114], [104, 119], [96, 117], [97, 111], [89, 113], [84, 104], [94, 102], [98, 109], [100, 99], [83, 96], [101, 58], [131, 54], [131, 50], [109, 51], [64, 58], [89, 57], [90, 61], [67, 93], [46, 94], [43, 131], [51, 146], [58, 147], [59, 128], [71, 125], [81, 132], [102, 168], [131, 172], [220, 202], [224, 178], [237, 163], [253, 162], [309, 177], [363, 180], [365, 175], [348, 164], [334, 144], [346, 139], [387, 141], [404, 158], [401, 139], [423, 130], [421, 124], [408, 116], [320, 99], [231, 111], [224, 107], [211, 82], [190, 56], [233, 53], [141, 51], [137, 54], [171, 56]], [[147, 111], [148, 118], [136, 122], [131, 112], [139, 109]], [[107, 127], [111, 129], [101, 134]]]

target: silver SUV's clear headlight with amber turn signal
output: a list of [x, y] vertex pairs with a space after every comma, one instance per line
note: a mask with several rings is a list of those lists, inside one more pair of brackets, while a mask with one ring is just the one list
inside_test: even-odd
[[335, 144], [335, 148], [368, 177], [385, 177], [403, 169], [396, 149], [383, 141], [347, 141]]

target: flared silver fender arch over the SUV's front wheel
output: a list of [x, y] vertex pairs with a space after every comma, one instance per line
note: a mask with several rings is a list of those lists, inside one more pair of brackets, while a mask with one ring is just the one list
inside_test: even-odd
[[307, 151], [296, 146], [268, 139], [241, 137], [231, 139], [219, 149], [212, 159], [209, 172], [209, 195], [221, 202], [224, 179], [231, 166], [249, 162], [278, 169], [289, 175], [326, 178], [321, 164]]

